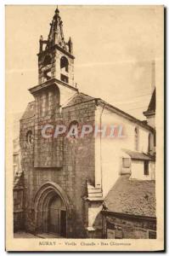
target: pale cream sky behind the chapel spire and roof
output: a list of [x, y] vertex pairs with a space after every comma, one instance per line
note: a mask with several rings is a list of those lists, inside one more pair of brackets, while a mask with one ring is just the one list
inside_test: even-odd
[[[11, 112], [34, 100], [40, 35], [48, 37], [56, 6], [6, 7], [6, 84]], [[161, 19], [155, 6], [59, 6], [71, 37], [77, 88], [145, 119]]]

